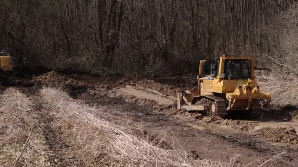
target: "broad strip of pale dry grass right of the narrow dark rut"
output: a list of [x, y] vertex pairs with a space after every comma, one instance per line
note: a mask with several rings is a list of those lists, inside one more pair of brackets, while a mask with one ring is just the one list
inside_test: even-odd
[[53, 127], [62, 130], [75, 147], [76, 158], [87, 166], [221, 166], [219, 162], [189, 159], [184, 151], [162, 149], [143, 140], [133, 132], [137, 127], [127, 122], [111, 123], [103, 109], [79, 104], [60, 89], [45, 87], [41, 97], [54, 112]]

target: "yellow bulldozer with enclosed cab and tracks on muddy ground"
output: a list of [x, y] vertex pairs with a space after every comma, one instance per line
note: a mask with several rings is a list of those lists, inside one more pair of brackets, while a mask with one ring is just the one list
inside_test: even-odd
[[178, 92], [177, 108], [204, 111], [208, 116], [225, 118], [232, 112], [259, 116], [268, 109], [269, 93], [261, 93], [255, 80], [253, 58], [219, 57], [210, 63], [210, 73], [204, 74], [205, 60], [199, 64], [198, 86], [192, 91]]

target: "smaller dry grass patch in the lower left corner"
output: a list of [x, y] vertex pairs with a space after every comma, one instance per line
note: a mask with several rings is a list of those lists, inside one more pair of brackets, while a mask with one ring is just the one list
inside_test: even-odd
[[[0, 166], [12, 166], [20, 154], [35, 122], [31, 113], [31, 101], [20, 91], [8, 88], [0, 95]], [[45, 153], [45, 140], [35, 129], [22, 154], [18, 166], [49, 166]]]

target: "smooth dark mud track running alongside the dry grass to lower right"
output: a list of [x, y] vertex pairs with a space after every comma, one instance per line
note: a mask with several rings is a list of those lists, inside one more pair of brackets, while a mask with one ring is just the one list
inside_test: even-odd
[[131, 118], [133, 122], [142, 124], [144, 130], [153, 136], [168, 131], [166, 142], [171, 144], [174, 141], [176, 146], [180, 145], [186, 151], [196, 151], [201, 159], [221, 159], [223, 162], [228, 162], [234, 156], [238, 156], [237, 165], [252, 163], [250, 167], [255, 167], [267, 159], [287, 151], [286, 155], [263, 165], [263, 167], [295, 167], [298, 163], [296, 158], [298, 149], [293, 146], [285, 144], [275, 146], [249, 134], [198, 130], [190, 127], [183, 120], [176, 120], [160, 112], [152, 112], [151, 108], [107, 95], [91, 95], [87, 91], [79, 95], [78, 99], [95, 107], [106, 107], [111, 114], [111, 119]]

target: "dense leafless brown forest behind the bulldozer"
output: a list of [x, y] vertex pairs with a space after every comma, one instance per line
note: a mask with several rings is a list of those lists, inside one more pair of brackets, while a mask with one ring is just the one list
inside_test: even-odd
[[0, 48], [31, 66], [99, 74], [197, 72], [253, 56], [298, 75], [296, 0], [1, 0]]

